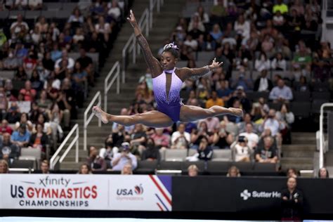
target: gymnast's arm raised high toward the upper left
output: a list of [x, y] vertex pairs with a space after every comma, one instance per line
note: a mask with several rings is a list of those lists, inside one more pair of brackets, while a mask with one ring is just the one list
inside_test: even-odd
[[150, 68], [150, 72], [152, 72], [152, 77], [157, 77], [159, 74], [163, 72], [162, 67], [159, 64], [159, 61], [152, 55], [152, 51], [149, 48], [148, 41], [145, 39], [145, 37], [143, 37], [140, 27], [138, 27], [138, 22], [136, 22], [136, 18], [133, 14], [133, 11], [130, 11], [129, 18], [127, 18], [127, 20], [129, 20], [134, 29], [136, 40], [138, 41], [138, 44], [141, 46], [143, 55], [145, 56], [145, 62]]

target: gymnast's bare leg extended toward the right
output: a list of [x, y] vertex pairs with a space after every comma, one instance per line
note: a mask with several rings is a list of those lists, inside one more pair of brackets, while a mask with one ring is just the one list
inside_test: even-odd
[[181, 122], [192, 122], [198, 119], [206, 119], [208, 117], [226, 114], [242, 117], [243, 111], [242, 109], [226, 108], [219, 105], [213, 105], [209, 109], [204, 109], [194, 105], [181, 106]]

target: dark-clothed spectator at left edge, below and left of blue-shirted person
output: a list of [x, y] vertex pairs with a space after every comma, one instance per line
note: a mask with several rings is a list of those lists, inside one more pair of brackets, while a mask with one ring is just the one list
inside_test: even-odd
[[0, 159], [7, 161], [16, 159], [20, 156], [20, 148], [12, 143], [11, 134], [4, 133], [0, 139]]

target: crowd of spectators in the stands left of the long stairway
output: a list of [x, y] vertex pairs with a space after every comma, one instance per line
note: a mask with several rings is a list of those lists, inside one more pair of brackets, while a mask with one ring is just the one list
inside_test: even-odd
[[25, 12], [47, 11], [42, 0], [1, 1], [0, 11], [11, 10], [20, 13], [1, 20], [0, 29], [0, 159], [10, 164], [22, 148], [40, 149], [42, 159], [46, 150], [55, 151], [95, 84], [124, 4], [93, 1], [86, 8], [77, 5], [67, 19], [32, 20]]

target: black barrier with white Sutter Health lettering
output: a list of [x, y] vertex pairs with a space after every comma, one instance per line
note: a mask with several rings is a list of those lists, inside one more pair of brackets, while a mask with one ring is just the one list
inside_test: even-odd
[[[333, 180], [298, 178], [304, 195], [305, 214], [333, 213]], [[280, 214], [280, 191], [287, 178], [174, 176], [173, 211]]]

